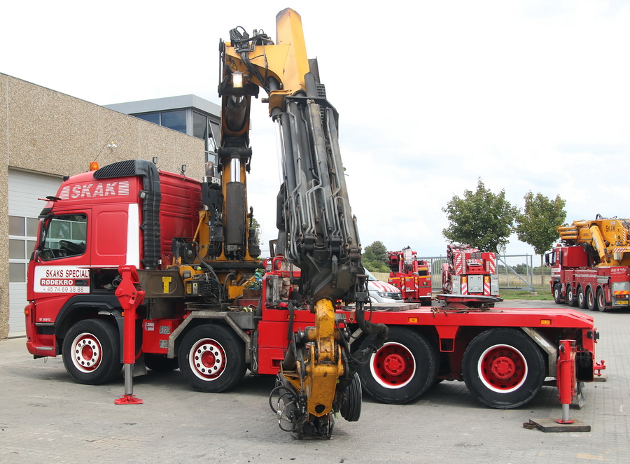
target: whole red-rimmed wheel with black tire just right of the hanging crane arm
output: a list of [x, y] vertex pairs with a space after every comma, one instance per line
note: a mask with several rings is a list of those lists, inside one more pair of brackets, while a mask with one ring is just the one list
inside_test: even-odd
[[[367, 348], [363, 342], [359, 349]], [[391, 326], [387, 342], [360, 365], [363, 389], [374, 400], [402, 405], [418, 398], [437, 377], [437, 354], [422, 335]]]

